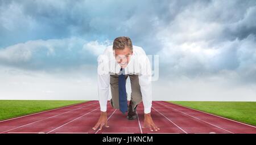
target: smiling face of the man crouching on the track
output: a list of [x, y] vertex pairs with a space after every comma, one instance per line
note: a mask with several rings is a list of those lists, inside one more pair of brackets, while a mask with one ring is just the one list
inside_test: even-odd
[[115, 54], [115, 60], [117, 61], [117, 63], [122, 68], [125, 68], [130, 61], [131, 55], [133, 55], [133, 51], [130, 48], [126, 47], [123, 50], [115, 49], [114, 54]]

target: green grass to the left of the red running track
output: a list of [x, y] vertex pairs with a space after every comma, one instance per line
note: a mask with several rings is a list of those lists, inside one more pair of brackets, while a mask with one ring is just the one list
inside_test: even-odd
[[85, 101], [69, 100], [0, 100], [0, 120], [42, 112]]

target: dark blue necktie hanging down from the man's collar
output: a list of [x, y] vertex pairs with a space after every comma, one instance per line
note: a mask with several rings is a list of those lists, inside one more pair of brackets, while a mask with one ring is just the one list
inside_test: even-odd
[[123, 114], [127, 112], [127, 96], [125, 87], [125, 69], [121, 68], [121, 74], [118, 75], [119, 109]]

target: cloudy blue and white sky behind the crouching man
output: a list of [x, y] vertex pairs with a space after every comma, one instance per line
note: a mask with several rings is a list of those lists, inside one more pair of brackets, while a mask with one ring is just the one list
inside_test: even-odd
[[159, 56], [153, 100], [256, 101], [255, 15], [254, 0], [0, 0], [0, 99], [97, 100], [97, 57], [128, 36]]

